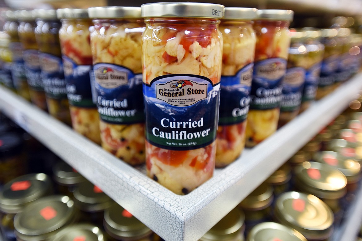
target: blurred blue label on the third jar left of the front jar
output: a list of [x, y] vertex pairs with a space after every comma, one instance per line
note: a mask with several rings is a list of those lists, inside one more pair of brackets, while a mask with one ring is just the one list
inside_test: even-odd
[[39, 52], [39, 61], [46, 95], [54, 99], [67, 98], [62, 59]]

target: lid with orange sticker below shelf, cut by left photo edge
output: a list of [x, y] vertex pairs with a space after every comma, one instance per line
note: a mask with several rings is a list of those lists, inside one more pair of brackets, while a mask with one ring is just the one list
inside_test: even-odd
[[26, 174], [14, 178], [0, 191], [0, 210], [16, 214], [30, 202], [49, 195], [51, 190], [50, 177], [44, 173]]

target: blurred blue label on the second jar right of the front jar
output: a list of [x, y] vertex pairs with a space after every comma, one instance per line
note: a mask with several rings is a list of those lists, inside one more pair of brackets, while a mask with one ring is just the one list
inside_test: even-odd
[[251, 88], [251, 109], [273, 109], [282, 99], [282, 78], [287, 60], [271, 58], [255, 63]]

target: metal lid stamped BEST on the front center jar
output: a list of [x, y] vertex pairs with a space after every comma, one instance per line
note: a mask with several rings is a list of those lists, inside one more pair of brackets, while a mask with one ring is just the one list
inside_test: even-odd
[[222, 18], [224, 6], [213, 3], [146, 3], [141, 5], [142, 17], [194, 17], [194, 18]]

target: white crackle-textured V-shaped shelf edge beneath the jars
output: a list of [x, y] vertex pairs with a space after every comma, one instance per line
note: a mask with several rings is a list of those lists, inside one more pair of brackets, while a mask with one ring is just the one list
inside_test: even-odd
[[0, 110], [165, 240], [196, 241], [343, 111], [361, 89], [358, 74], [185, 196], [165, 189], [3, 87]]

